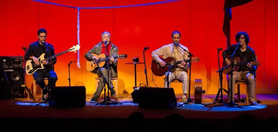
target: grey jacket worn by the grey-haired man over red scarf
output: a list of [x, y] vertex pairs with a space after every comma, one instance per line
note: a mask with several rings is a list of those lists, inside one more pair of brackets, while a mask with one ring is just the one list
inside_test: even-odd
[[[101, 46], [102, 42], [98, 42], [98, 44], [96, 44], [92, 49], [90, 49], [87, 53], [85, 53], [85, 58], [87, 60], [92, 60], [92, 54], [96, 54], [96, 55], [100, 55], [102, 46]], [[111, 44], [111, 49], [110, 49], [110, 53], [109, 56], [117, 56], [118, 55], [118, 47], [116, 45], [114, 45], [112, 42], [110, 42]], [[112, 64], [112, 61], [110, 61], [110, 65], [109, 67], [111, 67], [111, 72], [112, 72], [112, 77], [116, 77], [118, 76], [118, 71], [117, 71], [117, 63], [118, 63], [118, 59], [116, 60], [116, 64]], [[98, 68], [94, 69], [92, 71], [92, 73], [96, 73], [96, 71], [98, 70]], [[114, 75], [115, 74], [115, 75]]]

